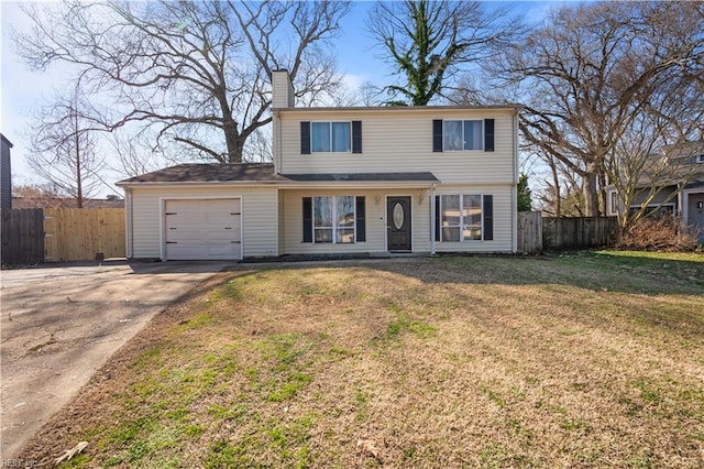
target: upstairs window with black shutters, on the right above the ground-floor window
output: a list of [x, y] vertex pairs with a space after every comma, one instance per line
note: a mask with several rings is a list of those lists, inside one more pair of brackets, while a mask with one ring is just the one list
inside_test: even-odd
[[494, 151], [494, 119], [432, 121], [432, 151]]

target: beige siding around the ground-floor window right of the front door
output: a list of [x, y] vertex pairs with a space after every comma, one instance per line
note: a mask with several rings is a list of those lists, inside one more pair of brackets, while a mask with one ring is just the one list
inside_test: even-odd
[[494, 196], [494, 240], [492, 241], [436, 241], [436, 252], [514, 252], [516, 217], [512, 210], [515, 194], [510, 186], [452, 185], [438, 186], [436, 195], [492, 195]]

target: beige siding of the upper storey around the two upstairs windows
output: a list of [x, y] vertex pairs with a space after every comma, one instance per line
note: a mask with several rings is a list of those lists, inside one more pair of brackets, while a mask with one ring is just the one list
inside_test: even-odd
[[[432, 172], [443, 183], [515, 183], [513, 110], [409, 111], [296, 109], [279, 113], [282, 174]], [[495, 119], [495, 151], [432, 151], [433, 119]], [[300, 154], [301, 121], [362, 121], [362, 153]], [[277, 160], [278, 160], [277, 155]]]

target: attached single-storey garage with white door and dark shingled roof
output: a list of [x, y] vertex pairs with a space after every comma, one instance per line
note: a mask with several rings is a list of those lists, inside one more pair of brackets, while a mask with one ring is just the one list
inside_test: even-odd
[[279, 184], [270, 163], [182, 164], [118, 183], [127, 254], [240, 261], [279, 255]]

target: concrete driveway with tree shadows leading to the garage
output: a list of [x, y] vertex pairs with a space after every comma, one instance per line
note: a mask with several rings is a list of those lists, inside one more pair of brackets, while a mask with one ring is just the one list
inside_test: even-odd
[[114, 351], [226, 265], [122, 262], [2, 271], [2, 459], [22, 458], [24, 443]]

